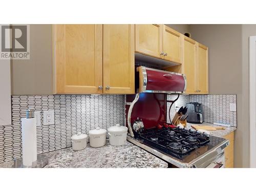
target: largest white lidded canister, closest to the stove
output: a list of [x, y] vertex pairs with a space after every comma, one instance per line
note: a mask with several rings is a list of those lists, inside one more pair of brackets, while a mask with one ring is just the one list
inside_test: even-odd
[[126, 141], [127, 130], [126, 126], [121, 126], [120, 124], [109, 127], [110, 144], [114, 146], [123, 145]]

